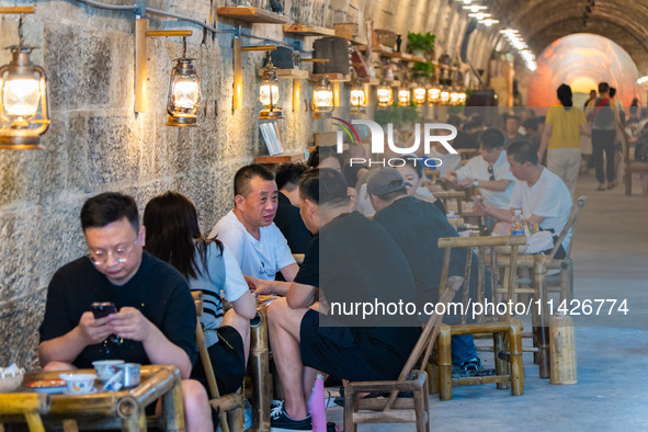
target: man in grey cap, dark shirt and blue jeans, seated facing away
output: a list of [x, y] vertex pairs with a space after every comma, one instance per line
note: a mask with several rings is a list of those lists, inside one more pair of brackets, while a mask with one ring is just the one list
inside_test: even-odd
[[[458, 237], [458, 234], [434, 204], [409, 196], [406, 187], [403, 177], [395, 168], [374, 170], [367, 180], [370, 200], [376, 209], [374, 221], [385, 228], [405, 254], [414, 276], [421, 308], [428, 302], [439, 300], [443, 251], [437, 241], [442, 237]], [[450, 274], [463, 275], [465, 265], [465, 252], [453, 250]], [[476, 287], [477, 259], [473, 260], [473, 265], [470, 286]], [[452, 338], [452, 356], [459, 371], [481, 370], [471, 334]]]

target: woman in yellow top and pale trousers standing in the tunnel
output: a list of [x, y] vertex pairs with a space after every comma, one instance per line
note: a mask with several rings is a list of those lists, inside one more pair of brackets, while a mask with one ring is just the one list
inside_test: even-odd
[[591, 135], [591, 130], [583, 112], [573, 106], [571, 88], [560, 84], [557, 93], [560, 104], [547, 111], [537, 156], [542, 160], [548, 148], [547, 168], [562, 179], [573, 197], [580, 170], [580, 134]]

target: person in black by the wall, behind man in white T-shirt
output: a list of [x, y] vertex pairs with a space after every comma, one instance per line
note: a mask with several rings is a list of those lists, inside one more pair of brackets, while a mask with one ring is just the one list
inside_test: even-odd
[[307, 168], [302, 162], [286, 162], [276, 169], [278, 201], [274, 225], [288, 241], [293, 253], [304, 253], [312, 236], [299, 216], [299, 178]]

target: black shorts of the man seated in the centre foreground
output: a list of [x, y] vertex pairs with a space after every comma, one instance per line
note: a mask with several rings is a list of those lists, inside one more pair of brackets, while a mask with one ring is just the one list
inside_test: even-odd
[[366, 361], [348, 327], [319, 327], [312, 309], [302, 318], [299, 339], [305, 366], [349, 380], [389, 379]]

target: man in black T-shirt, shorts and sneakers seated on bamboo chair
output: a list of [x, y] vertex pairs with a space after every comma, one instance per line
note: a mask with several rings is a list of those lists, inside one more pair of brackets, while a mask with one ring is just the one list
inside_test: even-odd
[[[401, 316], [363, 320], [362, 312], [349, 319], [339, 308], [336, 312], [338, 302], [416, 299], [402, 252], [376, 223], [350, 213], [342, 175], [330, 169], [308, 171], [299, 183], [299, 201], [315, 237], [287, 296], [268, 308], [270, 342], [285, 394], [271, 422], [284, 430], [310, 430], [306, 406], [318, 371], [350, 380], [395, 379], [420, 334], [420, 327], [379, 327], [402, 322]], [[320, 296], [322, 309], [331, 305], [328, 316], [309, 308], [318, 287], [326, 296], [323, 303]]]

